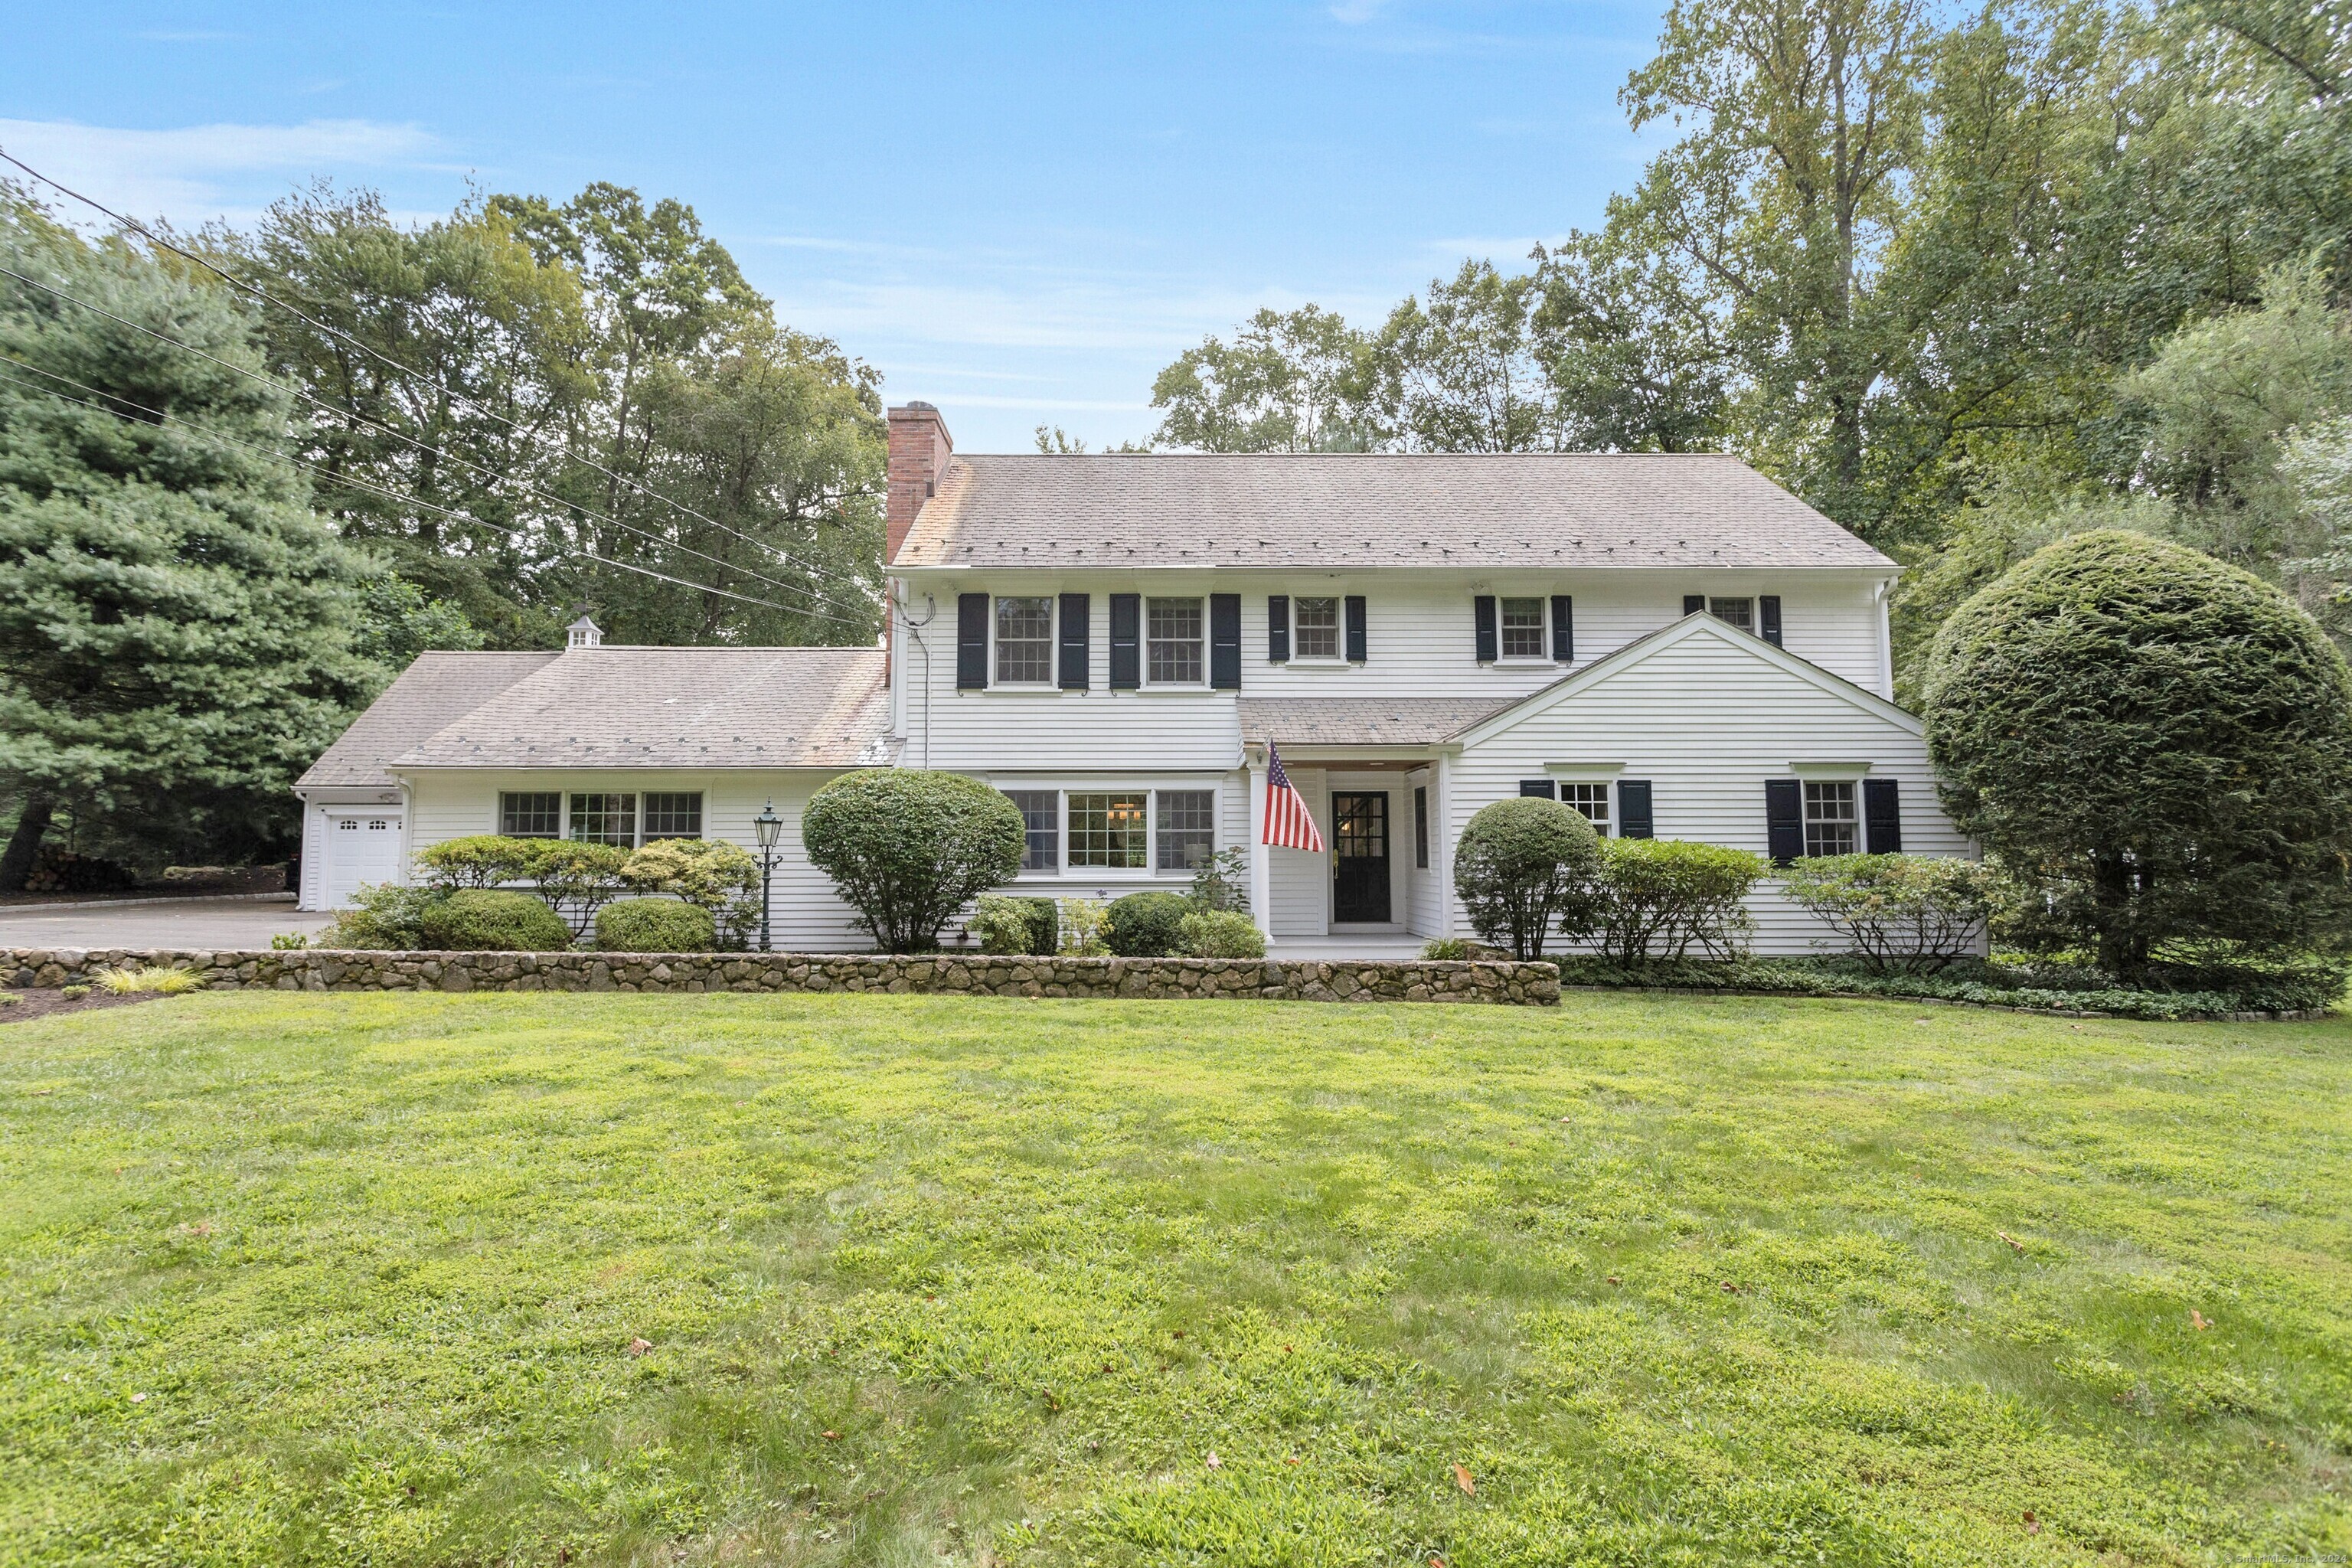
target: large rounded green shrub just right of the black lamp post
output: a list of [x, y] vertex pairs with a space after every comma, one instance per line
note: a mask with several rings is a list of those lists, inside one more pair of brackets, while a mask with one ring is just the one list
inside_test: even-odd
[[938, 947], [938, 929], [1018, 877], [1028, 849], [1000, 792], [917, 769], [842, 773], [809, 797], [800, 839], [884, 952]]

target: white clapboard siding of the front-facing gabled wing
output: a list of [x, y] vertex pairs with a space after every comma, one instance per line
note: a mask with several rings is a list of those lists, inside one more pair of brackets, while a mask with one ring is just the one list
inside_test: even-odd
[[[1936, 802], [1915, 724], [1872, 710], [1860, 693], [1780, 668], [1738, 635], [1698, 628], [1661, 642], [1595, 684], [1477, 736], [1451, 764], [1446, 842], [1479, 806], [1517, 795], [1522, 778], [1550, 776], [1552, 764], [1623, 764], [1618, 778], [1651, 780], [1656, 837], [1764, 853], [1766, 778], [1792, 778], [1799, 762], [1867, 762], [1867, 773], [1849, 776], [1900, 783], [1905, 851], [1973, 853]], [[1750, 912], [1757, 952], [1832, 945], [1832, 933], [1790, 905], [1778, 882], [1750, 898]]]

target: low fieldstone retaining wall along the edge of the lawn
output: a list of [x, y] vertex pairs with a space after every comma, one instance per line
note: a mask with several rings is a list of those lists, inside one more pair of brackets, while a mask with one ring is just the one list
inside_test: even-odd
[[89, 985], [169, 964], [214, 990], [950, 992], [969, 997], [1232, 997], [1557, 1006], [1552, 964], [1279, 959], [854, 957], [833, 952], [223, 952], [9, 947], [0, 983]]

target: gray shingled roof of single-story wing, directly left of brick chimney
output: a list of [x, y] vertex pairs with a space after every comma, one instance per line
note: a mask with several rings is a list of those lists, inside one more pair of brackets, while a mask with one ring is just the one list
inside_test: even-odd
[[868, 766], [887, 731], [880, 649], [567, 649], [393, 766]]

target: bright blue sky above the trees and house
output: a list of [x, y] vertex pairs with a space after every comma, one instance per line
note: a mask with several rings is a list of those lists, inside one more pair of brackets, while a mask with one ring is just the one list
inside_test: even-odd
[[1599, 221], [1644, 0], [1411, 5], [26, 5], [0, 146], [249, 219], [313, 176], [689, 202], [795, 327], [957, 444], [1143, 437], [1152, 374], [1261, 303], [1378, 320]]

